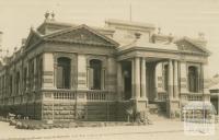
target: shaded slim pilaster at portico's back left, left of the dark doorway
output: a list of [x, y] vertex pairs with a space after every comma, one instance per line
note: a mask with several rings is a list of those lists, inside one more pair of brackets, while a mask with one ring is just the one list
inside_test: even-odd
[[122, 63], [117, 62], [117, 95], [118, 101], [120, 101], [122, 97]]

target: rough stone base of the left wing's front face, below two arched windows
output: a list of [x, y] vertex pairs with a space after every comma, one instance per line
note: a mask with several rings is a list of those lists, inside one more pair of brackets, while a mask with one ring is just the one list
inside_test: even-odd
[[[53, 108], [54, 107], [54, 108]], [[114, 102], [45, 102], [43, 104], [43, 119], [48, 120], [116, 120], [117, 107]]]

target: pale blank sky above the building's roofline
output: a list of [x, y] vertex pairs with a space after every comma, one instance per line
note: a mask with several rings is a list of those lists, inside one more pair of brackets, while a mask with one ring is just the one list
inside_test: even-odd
[[13, 52], [31, 27], [44, 21], [46, 11], [56, 21], [104, 26], [107, 19], [153, 23], [163, 34], [197, 37], [205, 33], [208, 72], [219, 73], [219, 0], [0, 0], [2, 48]]

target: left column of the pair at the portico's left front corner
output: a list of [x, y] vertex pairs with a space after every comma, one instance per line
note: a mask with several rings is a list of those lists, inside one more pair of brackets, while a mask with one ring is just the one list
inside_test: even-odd
[[136, 98], [140, 97], [140, 58], [135, 58], [135, 85]]

